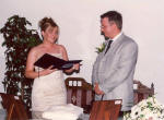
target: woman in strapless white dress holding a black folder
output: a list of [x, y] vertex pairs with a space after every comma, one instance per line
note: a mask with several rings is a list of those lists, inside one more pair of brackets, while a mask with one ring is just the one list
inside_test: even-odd
[[[66, 86], [63, 73], [61, 70], [42, 69], [34, 67], [44, 53], [68, 60], [68, 55], [63, 46], [56, 44], [59, 34], [59, 27], [51, 17], [44, 17], [39, 22], [43, 36], [43, 44], [32, 48], [26, 61], [25, 76], [35, 79], [32, 91], [32, 116], [33, 119], [43, 119], [42, 113], [50, 107], [67, 104]], [[79, 70], [79, 63], [73, 64], [65, 72]]]

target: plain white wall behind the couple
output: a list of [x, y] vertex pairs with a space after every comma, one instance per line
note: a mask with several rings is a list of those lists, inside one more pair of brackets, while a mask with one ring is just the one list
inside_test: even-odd
[[[70, 59], [82, 59], [82, 76], [91, 82], [95, 47], [104, 40], [99, 35], [99, 15], [117, 10], [124, 16], [124, 32], [139, 45], [139, 59], [134, 74], [145, 85], [155, 84], [156, 97], [164, 103], [164, 1], [163, 0], [1, 0], [0, 27], [7, 19], [25, 16], [38, 29], [44, 16], [51, 16], [60, 26], [59, 44], [66, 46]], [[0, 43], [3, 37], [0, 35]], [[0, 47], [0, 80], [4, 72], [4, 48]], [[2, 91], [0, 86], [0, 91]]]

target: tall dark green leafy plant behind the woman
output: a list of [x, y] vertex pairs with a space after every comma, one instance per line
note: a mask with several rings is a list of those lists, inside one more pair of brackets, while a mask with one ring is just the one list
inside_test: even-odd
[[32, 24], [19, 15], [8, 19], [0, 29], [3, 34], [5, 47], [5, 73], [2, 84], [8, 94], [21, 95], [26, 107], [31, 105], [32, 80], [24, 75], [26, 58], [30, 49], [42, 40], [36, 29], [28, 29]]

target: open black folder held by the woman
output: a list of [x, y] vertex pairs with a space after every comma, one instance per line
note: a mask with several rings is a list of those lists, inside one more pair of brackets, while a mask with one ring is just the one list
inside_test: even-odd
[[66, 70], [66, 69], [72, 68], [74, 63], [80, 63], [81, 61], [82, 60], [66, 61], [55, 56], [45, 53], [34, 63], [34, 65], [43, 68], [43, 69], [47, 69], [50, 65], [52, 65], [52, 69]]

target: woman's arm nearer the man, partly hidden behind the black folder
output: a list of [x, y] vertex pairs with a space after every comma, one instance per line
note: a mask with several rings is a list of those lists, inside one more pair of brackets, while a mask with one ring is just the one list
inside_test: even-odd
[[[67, 55], [66, 48], [65, 48], [63, 46], [60, 46], [60, 49], [61, 49], [61, 52], [62, 52], [62, 58], [63, 58], [63, 60], [68, 61], [69, 59], [68, 59], [68, 55]], [[74, 70], [79, 70], [79, 68], [80, 68], [80, 64], [79, 64], [79, 63], [75, 63], [75, 64], [73, 64], [73, 67], [72, 67], [71, 69], [65, 70], [65, 72], [71, 73], [71, 72], [73, 72]]]

